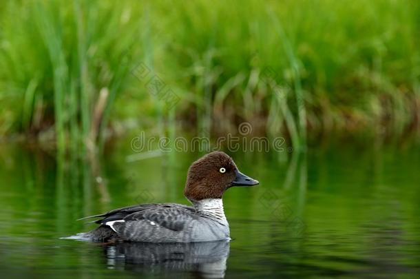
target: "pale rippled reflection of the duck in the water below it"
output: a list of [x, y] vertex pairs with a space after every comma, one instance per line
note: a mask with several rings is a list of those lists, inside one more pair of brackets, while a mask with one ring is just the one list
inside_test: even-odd
[[229, 240], [190, 243], [115, 242], [105, 246], [107, 265], [135, 271], [158, 269], [223, 278]]

